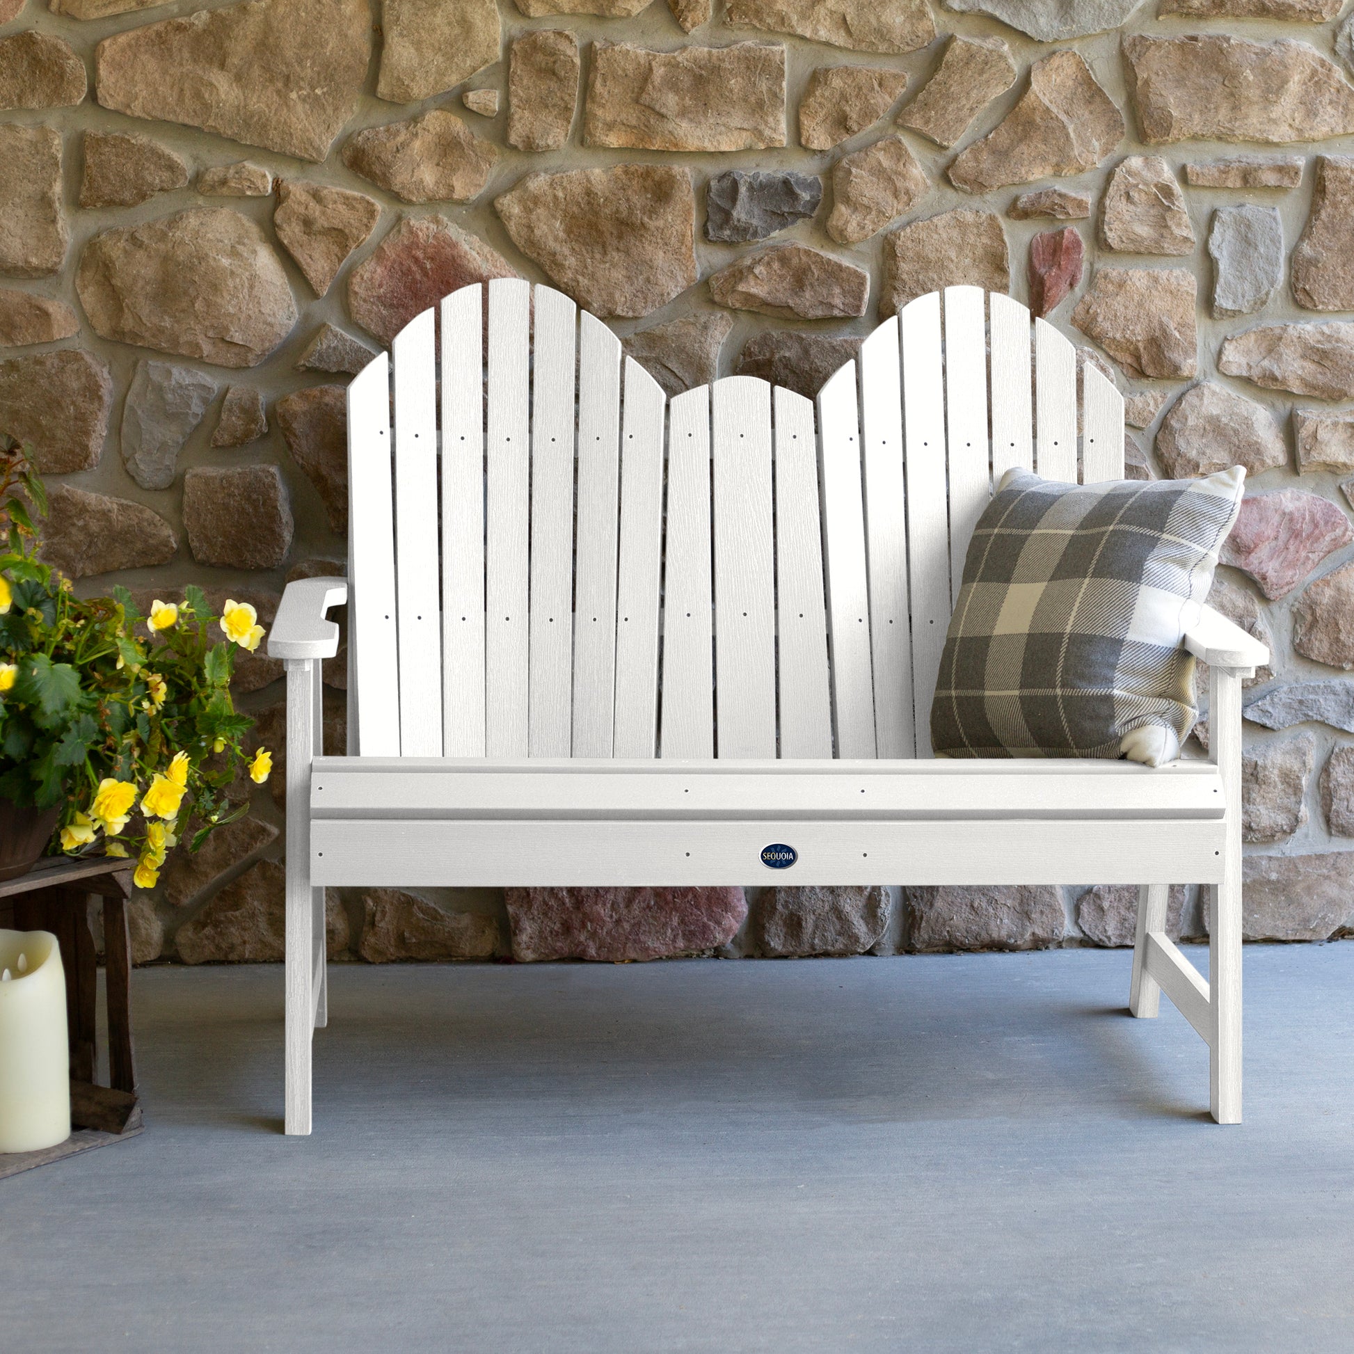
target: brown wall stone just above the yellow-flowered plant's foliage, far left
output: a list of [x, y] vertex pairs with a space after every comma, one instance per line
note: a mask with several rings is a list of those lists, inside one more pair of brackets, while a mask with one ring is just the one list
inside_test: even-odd
[[162, 565], [179, 548], [169, 523], [142, 504], [73, 485], [50, 487], [47, 502], [42, 558], [68, 578]]

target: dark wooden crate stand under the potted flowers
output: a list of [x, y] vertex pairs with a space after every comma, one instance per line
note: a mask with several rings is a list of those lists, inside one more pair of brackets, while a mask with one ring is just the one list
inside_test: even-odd
[[[108, 1014], [108, 1086], [96, 1086], [95, 1002], [99, 974], [89, 899], [103, 900], [104, 986]], [[70, 1128], [64, 1143], [38, 1152], [0, 1154], [0, 1179], [47, 1162], [133, 1137], [142, 1129], [131, 1049], [131, 940], [127, 899], [131, 861], [106, 856], [46, 857], [27, 875], [0, 881], [0, 927], [47, 930], [61, 945], [70, 1037]]]

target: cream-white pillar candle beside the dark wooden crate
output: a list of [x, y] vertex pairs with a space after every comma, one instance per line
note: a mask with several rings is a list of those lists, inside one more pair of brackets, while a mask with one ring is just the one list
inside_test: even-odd
[[51, 932], [0, 930], [0, 1152], [70, 1136], [66, 975]]

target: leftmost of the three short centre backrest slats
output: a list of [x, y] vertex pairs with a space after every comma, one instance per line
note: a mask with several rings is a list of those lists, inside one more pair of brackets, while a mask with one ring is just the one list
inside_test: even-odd
[[709, 386], [699, 386], [677, 395], [668, 412], [663, 757], [715, 756], [709, 554]]

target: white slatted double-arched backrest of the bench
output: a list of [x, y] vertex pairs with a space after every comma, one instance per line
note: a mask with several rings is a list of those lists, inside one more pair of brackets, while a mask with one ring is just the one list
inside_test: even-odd
[[1122, 475], [1114, 386], [1086, 364], [1078, 410], [1072, 345], [978, 287], [880, 325], [816, 421], [750, 376], [665, 399], [550, 287], [439, 320], [348, 387], [362, 756], [929, 757], [994, 477]]

